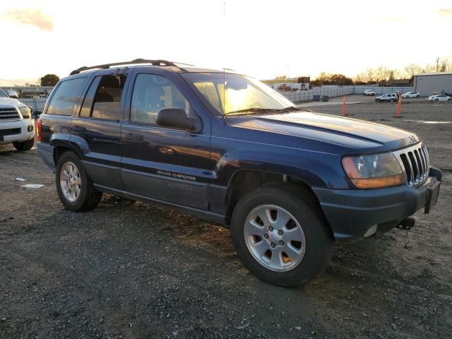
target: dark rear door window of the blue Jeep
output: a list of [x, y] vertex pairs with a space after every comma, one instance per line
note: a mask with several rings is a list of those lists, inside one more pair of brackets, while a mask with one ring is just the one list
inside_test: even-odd
[[96, 76], [83, 100], [80, 117], [119, 120], [125, 81], [123, 75]]

